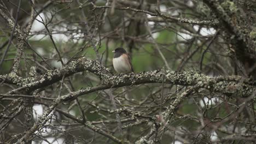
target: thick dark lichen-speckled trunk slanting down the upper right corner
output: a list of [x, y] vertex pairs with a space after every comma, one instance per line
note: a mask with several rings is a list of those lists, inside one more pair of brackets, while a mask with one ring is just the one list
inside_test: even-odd
[[243, 14], [243, 8], [236, 2], [220, 3], [215, 0], [203, 0], [203, 2], [216, 13], [218, 20], [223, 24], [223, 30], [229, 33], [226, 37], [232, 45], [229, 49], [234, 51], [237, 59], [244, 65], [247, 74], [255, 77], [256, 37], [253, 36], [256, 31], [253, 26], [255, 20], [247, 21], [249, 15]]

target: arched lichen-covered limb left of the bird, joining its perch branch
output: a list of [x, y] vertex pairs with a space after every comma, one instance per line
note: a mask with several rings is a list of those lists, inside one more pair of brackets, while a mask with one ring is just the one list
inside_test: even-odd
[[40, 77], [22, 78], [17, 76], [15, 73], [10, 73], [8, 75], [0, 75], [0, 82], [4, 81], [6, 83], [21, 86], [20, 88], [9, 92], [9, 94], [12, 94], [23, 90], [33, 91], [34, 89], [52, 85], [53, 83], [60, 81], [63, 76], [68, 77], [84, 70], [88, 70], [91, 73], [94, 73], [95, 75], [99, 76], [100, 79], [103, 79], [103, 77], [108, 79], [108, 77], [112, 76], [108, 69], [102, 67], [96, 61], [92, 61], [83, 57], [77, 61], [69, 62], [59, 69], [49, 70]]

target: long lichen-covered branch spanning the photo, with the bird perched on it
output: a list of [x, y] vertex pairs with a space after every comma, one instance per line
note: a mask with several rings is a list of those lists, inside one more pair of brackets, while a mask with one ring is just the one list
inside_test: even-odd
[[[165, 83], [182, 86], [194, 86], [197, 83], [201, 83], [205, 88], [214, 92], [226, 94], [239, 93], [238, 95], [240, 96], [246, 96], [254, 91], [256, 85], [255, 81], [243, 79], [240, 76], [220, 77], [216, 79], [204, 74], [199, 74], [196, 71], [178, 72], [170, 70], [155, 70], [112, 76], [107, 68], [103, 67], [96, 61], [86, 59], [85, 57], [80, 58], [77, 61], [69, 62], [59, 69], [50, 70], [38, 78], [28, 77], [22, 79], [22, 77], [18, 77], [14, 73], [10, 73], [9, 75], [0, 76], [0, 82], [5, 80], [5, 82], [11, 82], [18, 86], [22, 86], [9, 92], [9, 94], [13, 94], [19, 91], [33, 91], [34, 89], [52, 85], [53, 83], [60, 81], [63, 76], [71, 76], [84, 70], [88, 70], [100, 77], [102, 85], [94, 87], [95, 91], [113, 87], [139, 85], [142, 83], [162, 83], [162, 81], [164, 81]], [[162, 80], [163, 75], [164, 80]], [[72, 97], [77, 97], [78, 95], [88, 92], [91, 92], [91, 88], [89, 87], [78, 91], [77, 93], [74, 92]]]

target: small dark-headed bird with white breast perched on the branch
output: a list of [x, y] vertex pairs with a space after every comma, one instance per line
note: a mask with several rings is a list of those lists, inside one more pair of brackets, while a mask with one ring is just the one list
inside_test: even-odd
[[131, 58], [127, 54], [124, 48], [118, 47], [114, 51], [113, 66], [117, 73], [131, 73], [133, 72], [133, 67], [131, 64]]

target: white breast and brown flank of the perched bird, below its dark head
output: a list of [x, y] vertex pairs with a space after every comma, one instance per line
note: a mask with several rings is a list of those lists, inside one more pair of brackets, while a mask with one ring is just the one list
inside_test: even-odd
[[117, 73], [127, 73], [131, 71], [129, 63], [127, 63], [124, 57], [121, 56], [113, 58], [113, 66]]

